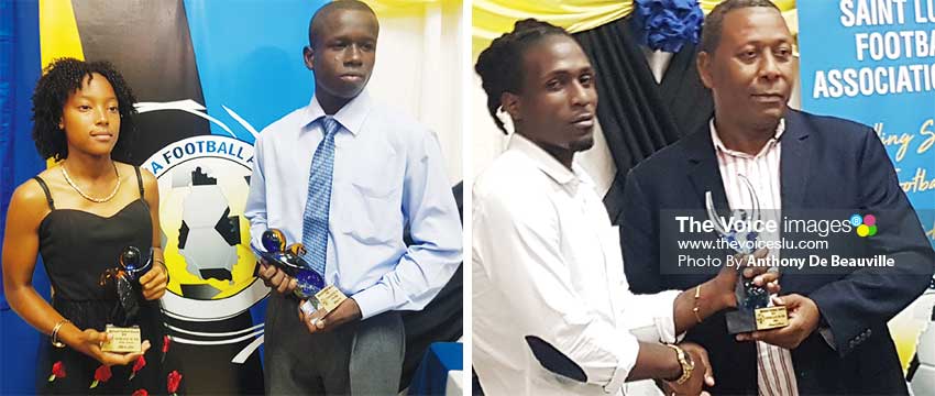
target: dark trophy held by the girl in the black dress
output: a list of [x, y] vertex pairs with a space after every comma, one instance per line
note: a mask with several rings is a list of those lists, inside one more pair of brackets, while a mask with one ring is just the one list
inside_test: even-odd
[[110, 268], [101, 276], [101, 287], [117, 289], [117, 305], [111, 310], [105, 332], [111, 336], [101, 344], [103, 352], [140, 352], [142, 340], [140, 327], [132, 324], [140, 314], [140, 277], [153, 267], [153, 250], [143, 257], [136, 246], [127, 246], [118, 257], [118, 267]]

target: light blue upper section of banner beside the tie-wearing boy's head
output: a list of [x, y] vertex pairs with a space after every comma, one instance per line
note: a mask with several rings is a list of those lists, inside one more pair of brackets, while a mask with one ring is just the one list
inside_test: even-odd
[[302, 47], [311, 15], [324, 3], [185, 1], [205, 106], [219, 121], [212, 134], [252, 143], [251, 129], [308, 103], [315, 80]]

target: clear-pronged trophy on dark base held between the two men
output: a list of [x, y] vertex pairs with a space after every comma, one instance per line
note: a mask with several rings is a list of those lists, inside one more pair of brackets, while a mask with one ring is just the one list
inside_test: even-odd
[[[746, 257], [749, 265], [754, 260], [754, 252], [756, 251], [758, 233], [754, 229], [754, 224], [760, 221], [760, 204], [750, 180], [743, 175], [739, 175], [739, 178], [746, 187], [745, 190], [751, 202], [751, 209], [735, 209], [730, 212], [730, 220], [725, 222], [714, 208], [714, 199], [712, 199], [711, 191], [705, 193], [705, 209], [707, 210], [708, 220], [714, 224], [714, 229], [718, 235], [738, 255]], [[745, 227], [737, 227], [738, 224], [745, 224]], [[777, 268], [773, 267], [769, 271], [774, 272]], [[743, 268], [739, 266], [737, 268], [737, 282], [734, 295], [737, 298], [737, 308], [727, 311], [725, 315], [728, 333], [737, 334], [789, 326], [789, 314], [785, 307], [770, 307], [769, 292], [767, 292], [766, 287], [757, 286], [754, 284], [754, 279], [744, 277]]]

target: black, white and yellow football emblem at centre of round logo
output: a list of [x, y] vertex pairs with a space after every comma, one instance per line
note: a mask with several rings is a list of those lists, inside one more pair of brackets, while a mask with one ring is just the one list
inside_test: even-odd
[[243, 217], [250, 169], [222, 157], [197, 157], [160, 175], [160, 222], [168, 290], [221, 299], [255, 280], [250, 226]]

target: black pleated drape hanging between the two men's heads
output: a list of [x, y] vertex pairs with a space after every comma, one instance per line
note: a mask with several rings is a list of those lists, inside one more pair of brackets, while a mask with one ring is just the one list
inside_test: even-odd
[[627, 172], [705, 124], [714, 110], [695, 68], [695, 46], [675, 53], [657, 82], [630, 23], [625, 18], [574, 34], [597, 73], [597, 120], [616, 166], [604, 204], [615, 224]]

